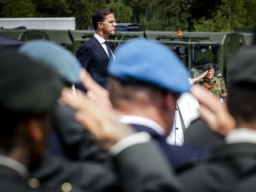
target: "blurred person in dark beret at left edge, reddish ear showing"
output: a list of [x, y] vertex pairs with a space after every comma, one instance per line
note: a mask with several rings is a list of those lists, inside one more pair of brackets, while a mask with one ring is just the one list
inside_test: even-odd
[[61, 191], [29, 176], [43, 159], [62, 81], [13, 50], [1, 50], [0, 63], [1, 191]]

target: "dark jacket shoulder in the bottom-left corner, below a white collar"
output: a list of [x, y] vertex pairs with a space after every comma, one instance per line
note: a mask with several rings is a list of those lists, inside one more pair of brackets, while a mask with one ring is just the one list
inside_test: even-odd
[[4, 192], [43, 192], [61, 191], [61, 186], [39, 185], [38, 188], [31, 188], [28, 185], [28, 178], [22, 177], [10, 167], [0, 165], [0, 191]]

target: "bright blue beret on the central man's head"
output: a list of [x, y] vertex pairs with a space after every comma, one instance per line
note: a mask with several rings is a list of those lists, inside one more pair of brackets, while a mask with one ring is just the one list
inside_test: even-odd
[[121, 44], [108, 72], [122, 80], [137, 80], [173, 93], [190, 91], [189, 72], [167, 46], [153, 40], [134, 40]]

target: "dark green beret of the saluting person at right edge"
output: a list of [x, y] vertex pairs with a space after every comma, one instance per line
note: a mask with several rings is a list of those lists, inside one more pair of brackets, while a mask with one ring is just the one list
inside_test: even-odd
[[228, 64], [229, 80], [233, 84], [256, 85], [256, 48], [240, 51]]

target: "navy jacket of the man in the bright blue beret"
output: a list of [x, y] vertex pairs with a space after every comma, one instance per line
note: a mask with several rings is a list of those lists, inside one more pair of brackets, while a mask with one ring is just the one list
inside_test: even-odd
[[155, 130], [143, 125], [132, 124], [132, 127], [134, 127], [137, 131], [148, 132], [153, 140], [155, 140], [163, 150], [164, 154], [168, 158], [169, 163], [174, 167], [183, 166], [187, 163], [194, 163], [194, 161], [205, 157], [208, 152], [208, 149], [205, 148], [171, 145], [166, 142], [166, 138], [164, 138], [164, 136], [161, 136]]

